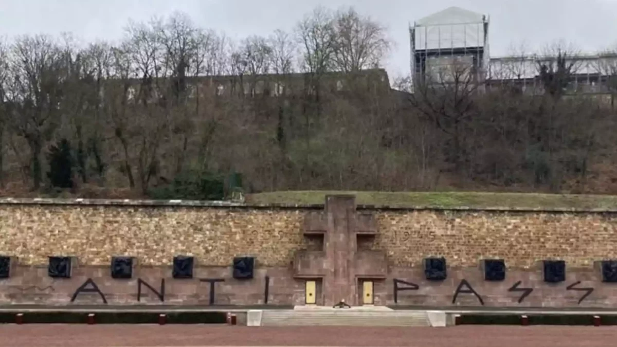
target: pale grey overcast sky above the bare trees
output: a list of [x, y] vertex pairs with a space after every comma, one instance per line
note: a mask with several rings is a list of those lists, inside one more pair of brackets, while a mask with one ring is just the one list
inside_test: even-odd
[[116, 40], [128, 19], [178, 10], [201, 27], [242, 38], [289, 30], [319, 4], [354, 6], [386, 25], [397, 45], [386, 65], [391, 77], [408, 73], [408, 23], [450, 6], [490, 16], [491, 56], [523, 41], [540, 48], [564, 39], [582, 51], [617, 44], [617, 0], [0, 0], [0, 36], [71, 31], [83, 40]]

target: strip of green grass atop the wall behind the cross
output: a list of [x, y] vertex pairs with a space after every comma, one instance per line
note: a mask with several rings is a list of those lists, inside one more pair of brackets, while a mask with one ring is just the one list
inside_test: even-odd
[[323, 204], [326, 194], [354, 194], [357, 204], [392, 207], [617, 209], [617, 196], [471, 192], [275, 191], [249, 194], [247, 203]]

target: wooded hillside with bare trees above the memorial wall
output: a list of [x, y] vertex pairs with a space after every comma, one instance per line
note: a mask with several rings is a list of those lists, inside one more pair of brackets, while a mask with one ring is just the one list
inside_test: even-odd
[[[324, 39], [312, 37], [318, 19], [300, 26], [308, 41]], [[228, 42], [178, 23], [141, 23], [87, 48], [51, 36], [0, 44], [0, 196], [218, 199], [234, 174], [245, 193], [617, 194], [613, 92], [530, 94], [478, 83], [469, 65], [412, 89], [373, 69], [381, 49], [324, 54], [281, 31], [276, 44]], [[336, 28], [326, 46], [353, 47]], [[368, 54], [366, 64], [348, 66], [346, 54]], [[555, 69], [539, 82], [569, 85]]]

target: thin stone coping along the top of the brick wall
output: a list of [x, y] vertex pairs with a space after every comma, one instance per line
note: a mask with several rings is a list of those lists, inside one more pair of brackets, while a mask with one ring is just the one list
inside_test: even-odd
[[[233, 201], [197, 200], [141, 200], [141, 199], [59, 199], [59, 198], [0, 198], [0, 205], [58, 205], [58, 206], [138, 206], [138, 207], [218, 207], [243, 209], [323, 209], [324, 204], [251, 204]], [[617, 213], [617, 207], [443, 207], [443, 206], [379, 206], [358, 204], [358, 210], [381, 211], [474, 211], [474, 212], [570, 212]]]

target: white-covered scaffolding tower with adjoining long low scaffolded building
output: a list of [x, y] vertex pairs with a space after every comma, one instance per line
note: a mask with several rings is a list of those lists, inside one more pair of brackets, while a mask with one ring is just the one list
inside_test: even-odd
[[[557, 61], [557, 53], [491, 58], [489, 17], [460, 7], [417, 20], [410, 25], [409, 34], [412, 88], [428, 79], [430, 83], [447, 83], [447, 72], [463, 64], [484, 87], [508, 84], [526, 93], [542, 93], [539, 68], [543, 64], [554, 67]], [[565, 57], [571, 67], [567, 93], [617, 93], [617, 52], [567, 52]]]

